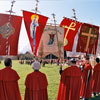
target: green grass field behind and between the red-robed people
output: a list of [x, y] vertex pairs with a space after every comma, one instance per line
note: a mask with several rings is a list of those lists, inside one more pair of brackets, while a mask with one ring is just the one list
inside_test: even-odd
[[[27, 64], [21, 65], [21, 64], [19, 64], [18, 61], [15, 61], [15, 60], [13, 61], [12, 66], [13, 66], [13, 69], [15, 69], [20, 76], [19, 88], [20, 88], [22, 99], [24, 100], [24, 92], [25, 92], [24, 82], [25, 82], [26, 75], [33, 71], [32, 66], [27, 65]], [[3, 61], [0, 64], [0, 69], [1, 68], [4, 68]], [[49, 97], [49, 100], [56, 100], [57, 91], [58, 91], [58, 84], [59, 84], [59, 79], [60, 79], [59, 67], [56, 65], [46, 64], [45, 67], [41, 67], [40, 71], [45, 73], [47, 76], [47, 79], [48, 79], [48, 97]], [[90, 100], [100, 100], [100, 96], [93, 97]]]

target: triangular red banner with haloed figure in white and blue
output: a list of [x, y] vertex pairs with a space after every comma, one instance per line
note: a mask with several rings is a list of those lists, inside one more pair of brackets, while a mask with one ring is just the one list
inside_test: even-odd
[[23, 11], [23, 16], [32, 52], [36, 55], [48, 17], [28, 11]]

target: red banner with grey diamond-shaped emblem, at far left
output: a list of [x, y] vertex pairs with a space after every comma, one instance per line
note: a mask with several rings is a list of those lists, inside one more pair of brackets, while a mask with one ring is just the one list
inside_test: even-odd
[[[16, 56], [18, 54], [18, 40], [20, 34], [20, 27], [22, 22], [22, 17], [11, 16], [10, 23], [8, 22], [8, 14], [0, 14], [0, 55], [6, 55], [6, 42], [8, 35], [8, 54]], [[9, 25], [9, 30], [8, 30]], [[8, 33], [7, 33], [8, 32]]]

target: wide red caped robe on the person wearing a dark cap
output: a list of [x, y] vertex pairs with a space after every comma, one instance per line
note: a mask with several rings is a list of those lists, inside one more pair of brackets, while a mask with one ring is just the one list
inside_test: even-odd
[[66, 68], [59, 84], [57, 100], [80, 100], [81, 70], [76, 66]]

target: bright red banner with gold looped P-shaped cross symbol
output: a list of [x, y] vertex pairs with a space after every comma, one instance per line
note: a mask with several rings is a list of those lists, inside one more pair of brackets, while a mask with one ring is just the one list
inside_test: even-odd
[[74, 20], [64, 18], [60, 24], [64, 27], [64, 50], [72, 51], [74, 38], [80, 27], [81, 23], [75, 22]]

